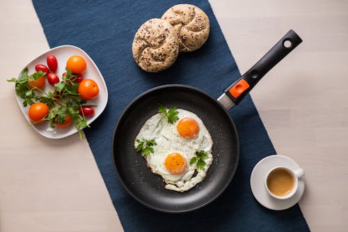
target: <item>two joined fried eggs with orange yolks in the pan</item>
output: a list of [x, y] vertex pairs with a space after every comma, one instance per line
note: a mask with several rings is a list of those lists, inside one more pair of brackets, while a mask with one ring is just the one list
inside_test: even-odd
[[[145, 160], [152, 173], [160, 175], [167, 190], [184, 192], [205, 179], [212, 164], [212, 137], [203, 121], [190, 111], [177, 109], [179, 120], [168, 123], [163, 114], [155, 114], [145, 122], [136, 139], [155, 139], [154, 152]], [[134, 140], [134, 147], [138, 145]], [[207, 153], [205, 169], [197, 169], [197, 163], [190, 164], [196, 152]], [[196, 175], [194, 175], [196, 174]]]

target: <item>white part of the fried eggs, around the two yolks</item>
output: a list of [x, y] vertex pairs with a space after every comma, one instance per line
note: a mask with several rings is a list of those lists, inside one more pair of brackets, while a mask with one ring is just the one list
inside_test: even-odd
[[[177, 109], [179, 120], [174, 123], [168, 123], [167, 118], [162, 118], [163, 114], [155, 114], [145, 122], [136, 139], [150, 140], [155, 139], [157, 145], [153, 146], [154, 153], [145, 156], [148, 167], [153, 173], [160, 175], [166, 182], [167, 190], [184, 192], [202, 180], [207, 175], [207, 170], [212, 164], [212, 137], [205, 127], [203, 121], [190, 111]], [[177, 132], [177, 123], [181, 118], [193, 118], [199, 125], [199, 132], [192, 139], [185, 139]], [[138, 144], [134, 140], [134, 147]], [[190, 164], [190, 160], [196, 155], [196, 151], [204, 150], [208, 154], [205, 160], [205, 170], [196, 169], [196, 164]], [[180, 153], [187, 162], [187, 170], [180, 175], [173, 175], [167, 171], [164, 166], [166, 157], [171, 153]], [[196, 176], [193, 174], [197, 171]]]

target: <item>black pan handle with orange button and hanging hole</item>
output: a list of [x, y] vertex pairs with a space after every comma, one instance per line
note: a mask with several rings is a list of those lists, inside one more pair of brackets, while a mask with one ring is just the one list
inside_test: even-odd
[[226, 95], [237, 105], [260, 79], [302, 42], [292, 30], [287, 32], [258, 63], [255, 63], [237, 82], [225, 89]]

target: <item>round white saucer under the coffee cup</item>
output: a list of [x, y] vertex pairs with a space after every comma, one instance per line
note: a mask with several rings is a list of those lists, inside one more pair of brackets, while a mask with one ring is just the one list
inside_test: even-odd
[[299, 202], [305, 190], [305, 180], [303, 177], [299, 178], [299, 188], [290, 199], [274, 199], [269, 195], [264, 187], [264, 176], [267, 174], [267, 171], [276, 166], [284, 166], [292, 170], [299, 169], [299, 164], [296, 164], [296, 162], [290, 159], [290, 157], [284, 155], [267, 156], [255, 165], [253, 172], [251, 173], [251, 191], [253, 192], [255, 199], [258, 200], [262, 206], [271, 210], [285, 210]]

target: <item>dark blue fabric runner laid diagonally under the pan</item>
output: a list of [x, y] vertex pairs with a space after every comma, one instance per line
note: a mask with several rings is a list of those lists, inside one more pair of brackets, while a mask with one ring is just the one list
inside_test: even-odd
[[150, 18], [161, 17], [177, 3], [182, 2], [33, 1], [49, 46], [68, 44], [84, 49], [100, 68], [108, 86], [108, 105], [85, 134], [123, 228], [125, 231], [309, 231], [298, 205], [283, 211], [268, 210], [251, 193], [249, 180], [253, 167], [276, 151], [250, 95], [230, 111], [240, 140], [237, 173], [226, 191], [209, 206], [180, 215], [157, 212], [132, 199], [120, 185], [111, 160], [111, 138], [116, 121], [129, 102], [143, 91], [162, 84], [188, 84], [218, 98], [240, 75], [206, 0], [186, 1], [199, 6], [209, 16], [211, 32], [202, 48], [180, 54], [171, 68], [157, 74], [143, 72], [136, 65], [132, 57], [136, 30]]

